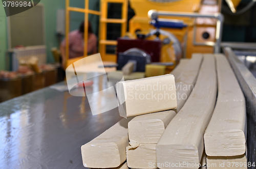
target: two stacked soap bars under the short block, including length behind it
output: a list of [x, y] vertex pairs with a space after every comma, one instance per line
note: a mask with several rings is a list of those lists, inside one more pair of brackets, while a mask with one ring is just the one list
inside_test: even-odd
[[[200, 69], [202, 58], [203, 57], [201, 54], [194, 54], [192, 59], [184, 60], [184, 62], [181, 62], [181, 65], [179, 65], [178, 68], [175, 69], [175, 76], [179, 77], [182, 74], [182, 76], [187, 77], [183, 78], [183, 81], [187, 82], [187, 84], [194, 85]], [[185, 63], [191, 66], [185, 67]], [[180, 79], [182, 79], [182, 77], [180, 77]], [[182, 83], [183, 85], [187, 85], [182, 81], [180, 81], [180, 83]], [[179, 89], [176, 88], [177, 93], [184, 93], [186, 95], [189, 95], [191, 91], [183, 90], [183, 87]], [[185, 97], [183, 99], [177, 98], [177, 108], [181, 108], [187, 98], [188, 97]], [[156, 143], [160, 139], [166, 126], [175, 117], [175, 115], [176, 112], [172, 110], [155, 112], [152, 114], [137, 116], [129, 122], [128, 128], [130, 143], [138, 143], [137, 147], [134, 146], [134, 144], [131, 144], [131, 146], [126, 148], [127, 164], [129, 167], [157, 168], [155, 149]]]

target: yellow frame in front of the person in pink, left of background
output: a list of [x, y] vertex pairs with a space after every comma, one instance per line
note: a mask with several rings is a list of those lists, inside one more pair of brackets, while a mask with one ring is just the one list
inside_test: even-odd
[[83, 8], [75, 8], [70, 7], [70, 0], [66, 0], [66, 68], [69, 64], [74, 63], [77, 59], [69, 59], [69, 31], [70, 31], [70, 12], [82, 12], [84, 13], [84, 52], [83, 57], [79, 57], [82, 59], [87, 57], [87, 47], [88, 47], [88, 21], [89, 14], [100, 15], [99, 11], [94, 11], [89, 9], [89, 0], [84, 0], [84, 9]]

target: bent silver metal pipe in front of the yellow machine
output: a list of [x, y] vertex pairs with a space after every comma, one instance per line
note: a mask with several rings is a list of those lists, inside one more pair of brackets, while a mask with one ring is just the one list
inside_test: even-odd
[[[188, 13], [188, 12], [166, 12], [166, 11], [156, 11], [150, 10], [148, 11], [148, 17], [151, 19], [156, 19], [158, 16], [176, 16], [176, 17], [193, 17], [193, 18], [216, 18], [217, 25], [216, 25], [216, 42], [206, 42], [206, 43], [197, 43], [196, 39], [194, 38], [193, 43], [194, 45], [205, 45], [205, 46], [215, 46], [215, 53], [220, 52], [220, 44], [221, 44], [221, 37], [222, 37], [222, 30], [223, 30], [223, 22], [224, 16], [221, 13], [215, 14], [200, 14], [200, 13]], [[195, 27], [194, 27], [195, 30]], [[194, 32], [194, 37], [195, 37]]]

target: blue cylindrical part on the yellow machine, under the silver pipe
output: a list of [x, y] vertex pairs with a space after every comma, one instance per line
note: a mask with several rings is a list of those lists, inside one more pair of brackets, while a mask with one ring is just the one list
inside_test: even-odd
[[181, 20], [159, 19], [159, 18], [152, 20], [150, 24], [154, 25], [157, 28], [166, 27], [166, 28], [175, 28], [175, 29], [182, 29], [183, 27], [187, 26]]

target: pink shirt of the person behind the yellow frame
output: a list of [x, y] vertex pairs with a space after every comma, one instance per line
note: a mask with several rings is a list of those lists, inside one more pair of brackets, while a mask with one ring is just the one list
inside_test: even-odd
[[[61, 42], [62, 46], [66, 46], [66, 39]], [[76, 58], [83, 56], [83, 36], [78, 31], [72, 31], [69, 33], [69, 58]], [[97, 52], [97, 37], [90, 33], [88, 34], [88, 47], [87, 52], [92, 54]]]

